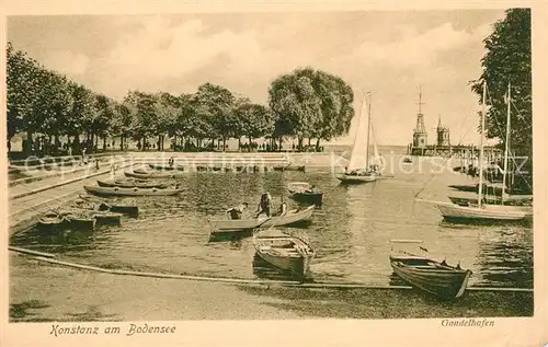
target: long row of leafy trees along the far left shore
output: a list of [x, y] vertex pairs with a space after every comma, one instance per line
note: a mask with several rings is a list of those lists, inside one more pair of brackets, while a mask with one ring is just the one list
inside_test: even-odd
[[163, 150], [165, 137], [174, 148], [199, 148], [210, 140], [225, 149], [230, 138], [251, 143], [263, 137], [271, 139], [271, 148], [284, 137], [296, 138], [299, 149], [305, 139], [316, 139], [319, 148], [320, 140], [347, 134], [354, 116], [352, 89], [311, 68], [277, 78], [269, 89], [269, 105], [261, 105], [212, 83], [193, 94], [133, 90], [116, 101], [44, 68], [11, 43], [7, 62], [8, 146], [24, 131], [27, 153], [41, 150], [37, 137], [46, 148], [59, 148], [67, 137], [73, 151], [96, 148], [100, 141], [105, 148], [107, 138], [119, 139], [121, 149], [133, 140], [141, 149], [152, 142]]

